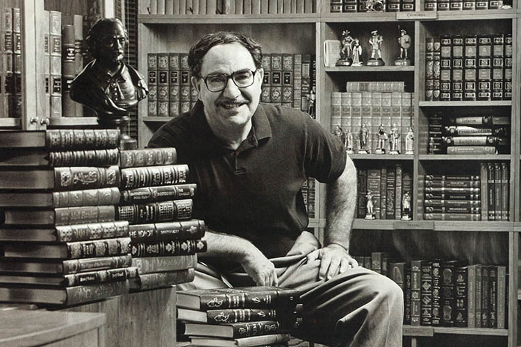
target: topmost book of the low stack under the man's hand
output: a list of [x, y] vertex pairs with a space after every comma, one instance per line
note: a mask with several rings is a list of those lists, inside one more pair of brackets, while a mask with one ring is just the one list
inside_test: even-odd
[[299, 299], [297, 289], [283, 287], [193, 289], [177, 293], [177, 306], [199, 311], [222, 308], [295, 307]]

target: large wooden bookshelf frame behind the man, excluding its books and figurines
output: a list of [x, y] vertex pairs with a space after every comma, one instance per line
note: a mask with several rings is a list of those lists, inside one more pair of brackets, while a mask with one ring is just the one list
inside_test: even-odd
[[[494, 101], [426, 101], [425, 92], [425, 46], [429, 35], [471, 33], [479, 27], [480, 32], [511, 33], [513, 35], [513, 85], [518, 83], [520, 63], [517, 48], [521, 42], [518, 32], [520, 10], [517, 4], [512, 9], [471, 10], [471, 11], [424, 11], [424, 1], [416, 1], [413, 12], [356, 12], [330, 13], [329, 1], [320, 4], [317, 13], [288, 15], [149, 15], [146, 8], [140, 8], [139, 46], [140, 52], [147, 51], [188, 51], [190, 44], [199, 34], [215, 29], [240, 30], [251, 34], [267, 53], [274, 51], [273, 42], [283, 43], [283, 53], [307, 51], [316, 55], [317, 85], [317, 119], [326, 129], [331, 128], [331, 92], [343, 92], [346, 81], [404, 81], [406, 92], [412, 93], [413, 119], [415, 133], [415, 149], [412, 155], [363, 155], [351, 154], [356, 166], [373, 164], [395, 164], [400, 162], [412, 168], [413, 173], [413, 220], [365, 220], [356, 219], [353, 225], [352, 247], [363, 248], [367, 240], [371, 246], [367, 251], [386, 246], [388, 251], [400, 253], [403, 245], [411, 246], [410, 250], [402, 249], [399, 255], [406, 260], [413, 257], [434, 256], [433, 249], [447, 257], [472, 260], [472, 262], [497, 261], [508, 266], [508, 302], [518, 300], [518, 251], [519, 232], [521, 232], [519, 201], [517, 187], [520, 185], [520, 130], [518, 110], [520, 96], [514, 92], [512, 100]], [[292, 24], [291, 27], [286, 24]], [[297, 27], [295, 27], [295, 25]], [[405, 28], [413, 37], [413, 48], [409, 51], [413, 60], [412, 66], [394, 66], [399, 46], [395, 44], [398, 37], [398, 26]], [[256, 29], [254, 31], [254, 28]], [[290, 31], [287, 31], [290, 28]], [[322, 42], [340, 40], [342, 30], [349, 28], [354, 37], [367, 42], [372, 30], [384, 33], [383, 67], [324, 67]], [[265, 33], [265, 34], [263, 34]], [[286, 35], [280, 35], [285, 33]], [[289, 35], [288, 35], [289, 33]], [[295, 33], [301, 46], [295, 47]], [[270, 40], [267, 40], [267, 38]], [[310, 46], [311, 42], [311, 46]], [[363, 44], [367, 56], [368, 45]], [[146, 74], [146, 55], [140, 53], [140, 71]], [[511, 117], [511, 141], [507, 153], [499, 155], [429, 155], [427, 151], [427, 121], [431, 112], [502, 112]], [[148, 117], [145, 105], [140, 105], [139, 143], [147, 144], [152, 133], [168, 117]], [[508, 221], [429, 221], [422, 219], [420, 176], [436, 171], [436, 173], [452, 174], [459, 171], [476, 171], [480, 162], [507, 162], [510, 178]], [[478, 170], [479, 171], [479, 170]], [[323, 236], [325, 226], [325, 189], [317, 185], [317, 218], [311, 226], [319, 237]], [[429, 240], [431, 244], [425, 240]], [[485, 250], [490, 243], [489, 250]], [[449, 245], [460, 244], [457, 250]], [[450, 248], [449, 251], [443, 248]], [[394, 248], [394, 249], [392, 249]], [[431, 249], [433, 248], [433, 249]], [[441, 248], [441, 249], [440, 249]], [[521, 289], [520, 289], [521, 290]], [[520, 294], [521, 296], [521, 294]], [[508, 329], [489, 328], [447, 328], [447, 327], [415, 327], [404, 326], [405, 346], [431, 346], [443, 341], [461, 341], [462, 345], [472, 341], [484, 341], [488, 344], [518, 346], [517, 305], [508, 307]], [[429, 337], [428, 339], [424, 337]], [[446, 342], [447, 344], [447, 342]], [[452, 342], [447, 345], [453, 345]]]

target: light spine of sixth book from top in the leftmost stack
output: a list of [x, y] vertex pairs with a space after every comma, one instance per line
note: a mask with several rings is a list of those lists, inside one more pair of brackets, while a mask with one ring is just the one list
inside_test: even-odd
[[57, 242], [76, 242], [112, 237], [129, 237], [129, 222], [108, 221], [56, 226]]

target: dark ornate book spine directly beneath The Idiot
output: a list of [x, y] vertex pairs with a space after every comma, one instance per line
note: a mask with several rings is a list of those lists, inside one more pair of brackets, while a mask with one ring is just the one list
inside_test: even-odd
[[132, 257], [156, 257], [165, 255], [193, 255], [206, 252], [204, 240], [174, 240], [158, 242], [137, 242], [131, 244]]

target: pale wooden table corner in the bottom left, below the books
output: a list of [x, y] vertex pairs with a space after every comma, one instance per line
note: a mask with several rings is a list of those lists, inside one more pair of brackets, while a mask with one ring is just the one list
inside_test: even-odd
[[3, 310], [0, 347], [105, 347], [104, 313]]

